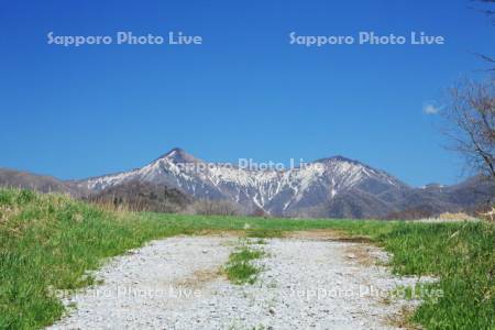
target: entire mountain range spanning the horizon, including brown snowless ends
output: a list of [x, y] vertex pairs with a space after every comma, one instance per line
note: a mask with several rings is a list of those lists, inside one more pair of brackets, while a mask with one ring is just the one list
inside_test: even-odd
[[106, 191], [129, 196], [125, 189], [139, 187], [147, 194], [164, 186], [190, 200], [231, 201], [244, 213], [263, 210], [273, 216], [297, 218], [387, 218], [418, 209], [433, 213], [472, 210], [495, 196], [495, 184], [485, 183], [481, 177], [452, 186], [432, 184], [418, 188], [385, 170], [341, 155], [298, 167], [253, 169], [205, 162], [179, 147], [127, 172], [78, 180], [0, 172], [0, 185], [6, 183], [75, 196], [107, 196]]

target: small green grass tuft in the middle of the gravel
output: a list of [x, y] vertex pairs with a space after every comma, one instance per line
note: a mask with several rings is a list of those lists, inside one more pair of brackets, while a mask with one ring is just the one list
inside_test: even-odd
[[241, 245], [229, 255], [229, 262], [223, 268], [227, 278], [238, 285], [245, 283], [254, 284], [257, 277], [256, 275], [261, 272], [261, 267], [253, 265], [252, 261], [260, 258], [263, 255], [263, 250], [255, 250], [252, 245], [242, 242]]

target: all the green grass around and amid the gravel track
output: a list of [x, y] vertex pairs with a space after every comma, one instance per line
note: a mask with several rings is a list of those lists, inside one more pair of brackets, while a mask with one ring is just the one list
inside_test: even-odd
[[[64, 196], [0, 189], [0, 329], [51, 324], [64, 312], [54, 289], [91, 284], [88, 271], [106, 257], [152, 239], [238, 230], [263, 240], [312, 229], [369, 238], [393, 253], [391, 266], [397, 274], [438, 276], [431, 287], [443, 296], [426, 300], [410, 321], [426, 329], [495, 328], [493, 224], [129, 213]], [[257, 252], [244, 248], [231, 256], [232, 265], [240, 265], [232, 272], [250, 278], [255, 271], [246, 261]]]

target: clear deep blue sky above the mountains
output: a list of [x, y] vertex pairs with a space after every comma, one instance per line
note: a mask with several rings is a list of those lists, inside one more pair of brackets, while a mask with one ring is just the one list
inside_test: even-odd
[[[495, 28], [471, 4], [0, 0], [0, 167], [82, 178], [180, 146], [215, 162], [340, 154], [410, 185], [459, 182], [460, 160], [425, 108], [483, 68], [472, 52], [495, 53]], [[204, 42], [64, 47], [47, 44], [50, 31], [182, 31]], [[289, 44], [293, 31], [424, 31], [447, 42], [305, 47]]]

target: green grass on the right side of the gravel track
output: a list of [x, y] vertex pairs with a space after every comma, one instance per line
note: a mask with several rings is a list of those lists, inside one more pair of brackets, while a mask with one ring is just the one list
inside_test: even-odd
[[495, 230], [485, 223], [396, 226], [378, 238], [402, 275], [436, 275], [411, 321], [427, 329], [495, 329]]

